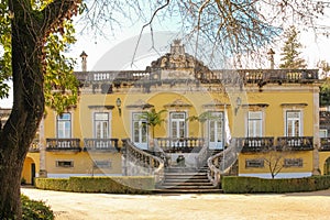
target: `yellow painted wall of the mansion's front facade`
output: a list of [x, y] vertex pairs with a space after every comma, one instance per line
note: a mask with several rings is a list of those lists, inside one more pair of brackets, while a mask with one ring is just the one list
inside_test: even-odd
[[[207, 87], [207, 85], [205, 85]], [[73, 136], [80, 139], [81, 147], [85, 138], [94, 136], [94, 122], [92, 122], [92, 112], [102, 111], [100, 109], [91, 109], [89, 106], [113, 106], [112, 110], [106, 110], [110, 112], [110, 125], [111, 125], [111, 138], [117, 138], [119, 140], [131, 138], [132, 128], [132, 112], [142, 111], [141, 109], [128, 108], [129, 106], [136, 105], [139, 100], [143, 100], [147, 103], [154, 105], [156, 111], [165, 109], [164, 106], [168, 103], [174, 103], [176, 100], [180, 100], [184, 103], [191, 105], [190, 108], [178, 108], [173, 107], [168, 108], [167, 112], [163, 113], [165, 123], [161, 127], [155, 128], [155, 138], [168, 136], [168, 117], [170, 111], [186, 111], [187, 117], [199, 116], [207, 110], [216, 109], [206, 109], [204, 105], [215, 103], [215, 100], [219, 100], [221, 103], [228, 106], [228, 117], [231, 128], [232, 138], [235, 136], [245, 136], [246, 130], [246, 113], [249, 107], [246, 105], [253, 103], [266, 103], [268, 107], [264, 108], [264, 136], [284, 136], [285, 133], [285, 108], [280, 103], [306, 103], [306, 107], [290, 107], [289, 109], [302, 110], [302, 135], [304, 136], [314, 136], [314, 124], [318, 123], [314, 121], [314, 92], [312, 86], [310, 85], [290, 85], [278, 86], [278, 85], [266, 85], [263, 88], [263, 91], [260, 92], [256, 87], [253, 88], [246, 87], [248, 94], [229, 94], [226, 96], [222, 92], [208, 92], [207, 90], [201, 90], [199, 92], [178, 92], [172, 91], [157, 91], [151, 94], [143, 92], [131, 92], [125, 90], [125, 92], [114, 92], [111, 95], [86, 95], [79, 98], [79, 103], [77, 108], [72, 109], [73, 117]], [[305, 90], [304, 90], [305, 89]], [[121, 89], [120, 89], [121, 90]], [[238, 114], [234, 113], [235, 108], [235, 98], [240, 96], [243, 100], [242, 105], [238, 110]], [[116, 100], [120, 98], [122, 101], [122, 116], [119, 116], [119, 110], [116, 106]], [[218, 107], [217, 110], [223, 111], [223, 107]], [[56, 113], [52, 110], [47, 110], [47, 116], [44, 121], [45, 128], [45, 138], [56, 138]], [[318, 112], [317, 112], [318, 113]], [[187, 122], [188, 123], [188, 136], [201, 136], [201, 125], [198, 122]], [[45, 144], [45, 143], [44, 143]], [[121, 142], [120, 142], [121, 145]], [[100, 154], [99, 156], [101, 156]], [[121, 155], [120, 154], [105, 154], [108, 155], [112, 161], [112, 168], [110, 173], [118, 174], [121, 173]], [[240, 174], [248, 173], [267, 173], [266, 169], [253, 169], [245, 168], [245, 158], [258, 157], [258, 154], [240, 154]], [[290, 158], [302, 158], [304, 167], [302, 168], [284, 168], [283, 172], [311, 172], [312, 170], [312, 153], [310, 152], [293, 152]], [[56, 160], [73, 160], [75, 161], [74, 168], [58, 168], [55, 167]], [[320, 156], [320, 167], [321, 162]], [[323, 160], [324, 161], [324, 160]], [[77, 153], [70, 154], [66, 152], [62, 153], [46, 153], [46, 170], [47, 173], [90, 173], [90, 157], [87, 153]], [[38, 170], [38, 169], [37, 169]]]

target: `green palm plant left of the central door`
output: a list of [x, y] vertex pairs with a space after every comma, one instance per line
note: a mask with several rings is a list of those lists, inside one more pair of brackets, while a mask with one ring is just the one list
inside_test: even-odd
[[155, 138], [155, 127], [161, 125], [162, 122], [165, 121], [164, 119], [162, 119], [162, 113], [164, 112], [166, 112], [165, 109], [156, 112], [156, 110], [152, 108], [150, 111], [142, 112], [140, 117], [140, 120], [144, 120], [145, 121], [144, 124], [151, 128], [152, 139]]

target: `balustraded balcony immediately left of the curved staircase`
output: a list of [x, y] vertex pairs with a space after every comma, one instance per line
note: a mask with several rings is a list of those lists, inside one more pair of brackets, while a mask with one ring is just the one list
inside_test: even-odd
[[85, 152], [120, 152], [118, 139], [84, 139]]

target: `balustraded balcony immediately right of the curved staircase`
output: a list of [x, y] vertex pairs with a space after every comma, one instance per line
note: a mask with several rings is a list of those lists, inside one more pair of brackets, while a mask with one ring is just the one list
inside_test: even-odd
[[243, 153], [268, 151], [274, 146], [274, 138], [238, 138], [237, 146], [242, 147]]

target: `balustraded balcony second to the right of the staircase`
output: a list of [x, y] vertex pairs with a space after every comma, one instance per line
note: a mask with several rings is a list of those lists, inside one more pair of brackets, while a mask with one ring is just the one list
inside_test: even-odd
[[279, 136], [277, 138], [279, 150], [312, 151], [312, 136]]

